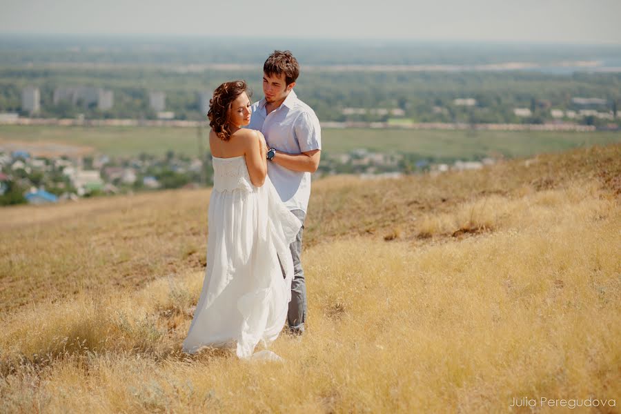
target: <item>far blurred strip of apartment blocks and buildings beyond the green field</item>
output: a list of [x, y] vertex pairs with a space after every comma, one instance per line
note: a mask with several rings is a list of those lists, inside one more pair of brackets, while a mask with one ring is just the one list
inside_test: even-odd
[[[209, 110], [210, 92], [197, 91], [195, 99], [201, 114]], [[56, 88], [52, 99], [53, 106], [72, 106], [74, 108], [96, 108], [105, 113], [114, 107], [112, 90], [86, 86]], [[452, 108], [473, 108], [479, 105], [473, 97], [455, 98]], [[414, 129], [469, 129], [480, 130], [619, 130], [616, 101], [598, 97], [572, 97], [573, 109], [554, 108], [549, 101], [531, 101], [530, 107], [516, 107], [511, 111], [520, 123], [506, 124], [502, 122], [484, 123], [478, 121], [464, 122], [422, 122], [412, 121], [406, 117], [402, 108], [340, 108], [343, 121], [322, 122], [324, 128], [414, 128]], [[27, 86], [21, 92], [21, 110], [18, 112], [0, 112], [0, 124], [13, 125], [87, 125], [87, 126], [187, 126], [197, 127], [204, 123], [200, 120], [177, 119], [175, 112], [166, 106], [166, 93], [161, 91], [148, 92], [148, 108], [155, 114], [154, 119], [111, 119], [108, 117], [85, 118], [78, 114], [71, 118], [39, 117], [41, 111], [41, 92], [39, 88]], [[436, 115], [446, 115], [449, 108], [433, 106]], [[535, 112], [546, 113], [547, 121], [533, 121]], [[366, 119], [380, 119], [368, 121]]]

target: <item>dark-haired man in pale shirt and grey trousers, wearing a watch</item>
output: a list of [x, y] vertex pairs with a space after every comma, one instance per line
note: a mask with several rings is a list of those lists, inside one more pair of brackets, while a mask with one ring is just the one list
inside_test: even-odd
[[293, 92], [299, 64], [291, 52], [275, 50], [263, 65], [265, 98], [253, 104], [248, 128], [260, 130], [270, 148], [268, 175], [285, 206], [302, 222], [295, 242], [293, 282], [287, 323], [289, 331], [304, 333], [306, 321], [306, 284], [300, 263], [302, 231], [308, 198], [311, 197], [311, 172], [319, 166], [322, 132], [317, 115]]

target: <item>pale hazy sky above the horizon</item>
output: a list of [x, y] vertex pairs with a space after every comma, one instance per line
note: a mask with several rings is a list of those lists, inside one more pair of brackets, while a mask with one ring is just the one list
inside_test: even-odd
[[621, 43], [621, 0], [0, 0], [0, 33]]

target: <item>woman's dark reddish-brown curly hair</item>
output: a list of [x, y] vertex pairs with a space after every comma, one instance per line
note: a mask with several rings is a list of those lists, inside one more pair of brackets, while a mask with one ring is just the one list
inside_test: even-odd
[[230, 125], [228, 124], [228, 114], [230, 104], [246, 92], [248, 97], [252, 92], [248, 90], [245, 81], [224, 82], [213, 91], [213, 97], [209, 101], [209, 126], [222, 141], [230, 138]]

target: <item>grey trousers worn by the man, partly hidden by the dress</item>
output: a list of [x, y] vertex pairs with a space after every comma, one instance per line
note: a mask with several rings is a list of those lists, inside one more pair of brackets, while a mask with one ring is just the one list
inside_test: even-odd
[[[293, 333], [304, 332], [304, 322], [306, 321], [306, 283], [304, 282], [304, 269], [300, 262], [302, 254], [302, 233], [304, 233], [304, 219], [306, 213], [302, 210], [291, 210], [291, 213], [302, 221], [302, 227], [295, 237], [295, 242], [289, 245], [291, 256], [293, 257], [293, 281], [291, 282], [291, 302], [287, 313], [287, 324]], [[284, 277], [284, 268], [281, 269]]]

